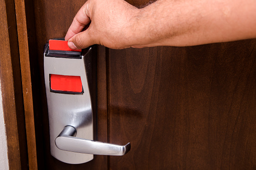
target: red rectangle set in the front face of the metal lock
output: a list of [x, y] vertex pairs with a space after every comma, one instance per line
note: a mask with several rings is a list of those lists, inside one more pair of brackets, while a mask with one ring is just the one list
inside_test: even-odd
[[66, 92], [82, 92], [80, 76], [64, 76], [50, 74], [51, 90]]

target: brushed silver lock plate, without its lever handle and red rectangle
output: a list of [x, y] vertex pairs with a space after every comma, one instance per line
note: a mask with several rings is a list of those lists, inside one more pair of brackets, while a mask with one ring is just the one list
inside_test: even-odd
[[[66, 163], [84, 163], [94, 158], [93, 154], [60, 150], [55, 138], [66, 125], [75, 127], [79, 138], [94, 139], [93, 113], [86, 76], [85, 57], [92, 57], [92, 48], [84, 50], [81, 59], [46, 57], [44, 49], [44, 78], [47, 97], [51, 154]], [[90, 63], [87, 63], [90, 64]], [[50, 92], [49, 74], [80, 76], [83, 94], [60, 94]]]

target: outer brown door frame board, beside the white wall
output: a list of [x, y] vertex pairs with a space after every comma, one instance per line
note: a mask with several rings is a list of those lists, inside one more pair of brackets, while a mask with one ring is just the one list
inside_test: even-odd
[[[28, 169], [15, 5], [0, 1], [0, 79], [9, 169]], [[1, 167], [0, 167], [1, 168]]]

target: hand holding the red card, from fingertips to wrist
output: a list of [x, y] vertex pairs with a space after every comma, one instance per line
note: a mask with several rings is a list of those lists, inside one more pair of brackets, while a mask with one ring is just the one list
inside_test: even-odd
[[112, 49], [131, 47], [137, 41], [133, 29], [138, 13], [139, 9], [123, 0], [88, 0], [74, 17], [65, 40], [71, 49], [94, 44]]

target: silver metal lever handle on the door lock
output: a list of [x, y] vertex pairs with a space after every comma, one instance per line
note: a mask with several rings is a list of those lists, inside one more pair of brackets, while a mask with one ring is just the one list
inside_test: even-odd
[[130, 143], [126, 145], [104, 143], [74, 137], [75, 135], [76, 129], [73, 126], [65, 126], [55, 139], [56, 146], [61, 150], [71, 152], [120, 156], [126, 154], [131, 148]]

